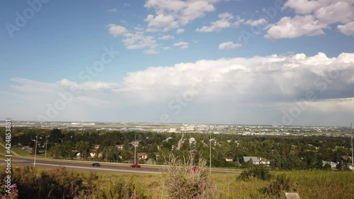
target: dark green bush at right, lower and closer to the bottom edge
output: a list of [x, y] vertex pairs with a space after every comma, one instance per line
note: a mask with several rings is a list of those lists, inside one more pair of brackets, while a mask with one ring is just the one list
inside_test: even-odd
[[284, 192], [296, 192], [297, 188], [295, 183], [290, 181], [290, 178], [285, 174], [277, 176], [268, 187], [262, 189], [263, 194], [275, 196], [276, 198], [282, 197]]

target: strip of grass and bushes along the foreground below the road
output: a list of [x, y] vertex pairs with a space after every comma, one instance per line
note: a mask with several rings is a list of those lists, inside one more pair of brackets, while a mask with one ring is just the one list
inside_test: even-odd
[[[4, 166], [0, 169], [3, 178]], [[170, 195], [173, 191], [161, 180], [166, 174], [96, 174], [62, 167], [38, 170], [23, 166], [13, 166], [13, 171], [12, 182], [16, 183], [18, 198], [173, 198]], [[193, 173], [188, 171], [188, 174]], [[354, 198], [354, 174], [350, 171], [277, 171], [270, 174], [272, 178], [268, 180], [241, 180], [240, 174], [211, 174], [208, 176], [210, 183], [204, 187], [213, 191], [210, 198], [220, 199], [284, 198], [284, 192], [289, 190], [299, 193], [302, 199]], [[195, 190], [205, 193], [203, 185], [197, 182]], [[190, 183], [178, 185], [190, 190]], [[5, 190], [3, 183], [0, 186], [1, 191]], [[0, 195], [5, 194], [1, 192]], [[198, 197], [202, 198], [201, 194], [190, 198]]]

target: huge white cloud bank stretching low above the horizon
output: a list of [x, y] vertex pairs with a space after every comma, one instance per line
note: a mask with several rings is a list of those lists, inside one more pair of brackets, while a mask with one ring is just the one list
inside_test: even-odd
[[[179, 42], [175, 46], [183, 45], [185, 43]], [[72, 115], [81, 117], [77, 116], [79, 113], [87, 115], [89, 112], [86, 110], [92, 115], [99, 110], [115, 110], [116, 114], [124, 107], [129, 107], [127, 112], [134, 112], [142, 105], [156, 108], [159, 104], [157, 107], [166, 108], [176, 96], [183, 98], [183, 93], [198, 89], [193, 103], [188, 101], [188, 115], [191, 117], [200, 115], [198, 111], [203, 110], [205, 113], [202, 115], [216, 115], [216, 118], [224, 120], [244, 113], [241, 114], [243, 118], [254, 121], [252, 118], [266, 113], [262, 121], [271, 123], [270, 115], [281, 115], [282, 110], [289, 110], [300, 103], [307, 107], [301, 116], [305, 123], [314, 115], [321, 118], [324, 113], [331, 120], [340, 122], [342, 113], [352, 114], [354, 109], [353, 53], [342, 53], [338, 57], [327, 57], [320, 52], [312, 57], [297, 54], [202, 59], [130, 72], [119, 83], [78, 83], [67, 79], [49, 83], [11, 80], [12, 94], [21, 95], [23, 103], [36, 107], [53, 104], [60, 98], [58, 93], [70, 91], [72, 87], [79, 89], [81, 92], [75, 94], [72, 103], [63, 110], [69, 118]], [[193, 109], [193, 104], [199, 109]], [[100, 109], [92, 110], [92, 107]], [[214, 109], [216, 112], [208, 112]], [[220, 109], [222, 115], [218, 115]], [[246, 114], [242, 110], [249, 112]], [[169, 111], [173, 113], [174, 109]], [[305, 117], [308, 112], [311, 114]], [[146, 114], [145, 120], [151, 120], [149, 115]], [[243, 121], [242, 118], [239, 120]]]

